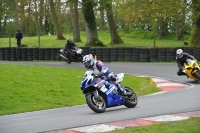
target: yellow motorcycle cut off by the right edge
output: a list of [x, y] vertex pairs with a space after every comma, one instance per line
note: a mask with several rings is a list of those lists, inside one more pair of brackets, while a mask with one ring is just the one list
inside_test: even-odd
[[200, 68], [196, 60], [187, 59], [186, 63], [184, 63], [184, 70], [188, 77], [195, 81], [200, 81]]

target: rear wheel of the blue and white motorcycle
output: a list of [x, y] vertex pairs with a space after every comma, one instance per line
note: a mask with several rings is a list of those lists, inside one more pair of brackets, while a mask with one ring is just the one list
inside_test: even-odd
[[135, 92], [131, 88], [126, 87], [126, 86], [124, 87], [124, 89], [127, 92], [132, 92], [131, 96], [127, 96], [127, 98], [125, 98], [126, 102], [125, 102], [124, 106], [126, 106], [127, 108], [135, 107], [138, 103], [138, 99], [137, 99]]

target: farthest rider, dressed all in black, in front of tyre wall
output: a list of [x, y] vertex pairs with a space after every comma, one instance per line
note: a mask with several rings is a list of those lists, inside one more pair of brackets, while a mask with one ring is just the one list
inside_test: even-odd
[[70, 59], [70, 55], [73, 55], [74, 53], [72, 52], [72, 50], [75, 47], [75, 43], [72, 42], [72, 40], [70, 38], [67, 39], [67, 43], [65, 44], [65, 47], [63, 48], [63, 54], [65, 56], [67, 56], [68, 59]]

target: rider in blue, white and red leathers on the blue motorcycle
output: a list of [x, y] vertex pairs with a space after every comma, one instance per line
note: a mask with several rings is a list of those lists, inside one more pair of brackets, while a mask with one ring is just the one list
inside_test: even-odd
[[[92, 71], [95, 71], [97, 69], [99, 72], [97, 75], [102, 78], [105, 76], [107, 81], [114, 84], [118, 88], [120, 95], [131, 95], [131, 92], [126, 92], [126, 90], [121, 87], [120, 84], [117, 82], [114, 72], [112, 72], [107, 66], [105, 66], [102, 61], [95, 60], [92, 54], [88, 54], [83, 57], [83, 64], [85, 65], [86, 69]], [[108, 86], [110, 85], [110, 83], [108, 84]]]

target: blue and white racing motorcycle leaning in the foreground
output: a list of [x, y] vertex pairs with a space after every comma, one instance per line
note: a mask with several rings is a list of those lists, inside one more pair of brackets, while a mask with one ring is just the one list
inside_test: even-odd
[[[124, 73], [116, 74], [116, 77], [120, 83], [124, 78]], [[85, 72], [80, 87], [85, 94], [87, 105], [96, 113], [103, 113], [106, 108], [120, 105], [133, 108], [138, 102], [131, 88], [124, 86], [126, 92], [131, 92], [132, 95], [121, 96], [114, 84], [96, 76], [94, 71]]]

